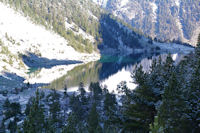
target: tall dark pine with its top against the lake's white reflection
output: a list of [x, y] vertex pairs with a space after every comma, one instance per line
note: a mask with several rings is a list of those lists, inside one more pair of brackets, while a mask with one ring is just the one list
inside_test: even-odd
[[140, 66], [133, 75], [137, 88], [130, 93], [127, 102], [123, 104], [125, 123], [124, 131], [149, 132], [150, 124], [154, 122], [155, 98], [154, 92], [149, 87], [148, 75]]

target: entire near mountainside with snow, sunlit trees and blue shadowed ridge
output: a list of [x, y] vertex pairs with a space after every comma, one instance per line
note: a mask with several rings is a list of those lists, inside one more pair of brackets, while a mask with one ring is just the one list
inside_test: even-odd
[[88, 0], [0, 2], [0, 75], [6, 79], [8, 72], [31, 83], [49, 83], [76, 63], [98, 60], [97, 47], [100, 53], [155, 49]]

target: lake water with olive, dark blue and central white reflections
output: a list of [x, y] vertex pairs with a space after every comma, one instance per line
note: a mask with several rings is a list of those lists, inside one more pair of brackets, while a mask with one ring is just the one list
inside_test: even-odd
[[[160, 55], [165, 60], [167, 54]], [[173, 54], [175, 62], [179, 62], [184, 55]], [[100, 82], [106, 85], [110, 91], [115, 91], [117, 85], [121, 81], [126, 81], [128, 87], [134, 88], [132, 83], [131, 73], [135, 70], [136, 65], [142, 65], [145, 71], [150, 69], [153, 58], [158, 58], [159, 55], [132, 54], [129, 56], [102, 56], [99, 61], [90, 62], [75, 67], [66, 75], [53, 81], [50, 88], [62, 90], [65, 85], [71, 91], [78, 88], [80, 82], [88, 86], [91, 82]]]

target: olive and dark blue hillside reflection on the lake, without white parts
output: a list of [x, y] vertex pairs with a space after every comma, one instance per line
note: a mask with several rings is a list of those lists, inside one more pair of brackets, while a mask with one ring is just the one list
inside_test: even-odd
[[[167, 54], [162, 55], [162, 59], [165, 59]], [[126, 57], [109, 57], [106, 60], [100, 60], [97, 62], [90, 62], [88, 64], [80, 65], [69, 71], [66, 75], [53, 81], [50, 84], [51, 88], [63, 89], [65, 84], [68, 88], [76, 87], [80, 82], [85, 85], [91, 82], [102, 81], [117, 73], [118, 71], [125, 69], [131, 69], [132, 72], [135, 65], [142, 65], [145, 71], [150, 68], [152, 58], [159, 56], [145, 56], [144, 54], [132, 54]], [[180, 56], [178, 56], [180, 57]], [[114, 59], [113, 59], [114, 58]]]

